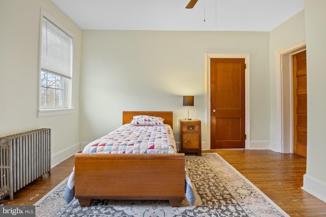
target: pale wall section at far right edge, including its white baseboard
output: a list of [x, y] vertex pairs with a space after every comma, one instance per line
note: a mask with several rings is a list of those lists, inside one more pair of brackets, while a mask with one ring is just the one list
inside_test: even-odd
[[[326, 1], [306, 0], [308, 149], [304, 189], [326, 202]], [[309, 73], [309, 74], [308, 74]]]

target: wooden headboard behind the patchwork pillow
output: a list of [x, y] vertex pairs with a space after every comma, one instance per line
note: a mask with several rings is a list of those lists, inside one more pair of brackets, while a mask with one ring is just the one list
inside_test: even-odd
[[173, 112], [172, 111], [123, 111], [122, 124], [130, 123], [135, 115], [150, 115], [164, 118], [164, 123], [173, 128]]

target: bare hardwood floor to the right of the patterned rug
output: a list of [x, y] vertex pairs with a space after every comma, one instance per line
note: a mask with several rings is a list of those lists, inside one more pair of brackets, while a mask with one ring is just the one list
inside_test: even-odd
[[290, 216], [326, 216], [326, 203], [301, 189], [305, 158], [270, 150], [207, 152], [220, 154]]

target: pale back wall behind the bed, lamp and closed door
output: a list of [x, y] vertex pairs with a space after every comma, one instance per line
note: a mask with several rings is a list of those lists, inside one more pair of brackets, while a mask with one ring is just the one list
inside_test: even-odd
[[119, 127], [123, 110], [171, 110], [178, 142], [182, 96], [194, 95], [205, 148], [206, 53], [250, 55], [251, 141], [268, 143], [269, 33], [123, 30], [83, 30], [80, 141]]

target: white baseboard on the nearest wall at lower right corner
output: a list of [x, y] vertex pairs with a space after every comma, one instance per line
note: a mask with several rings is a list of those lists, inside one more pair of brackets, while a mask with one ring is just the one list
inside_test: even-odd
[[302, 189], [326, 203], [326, 183], [315, 177], [305, 174]]

